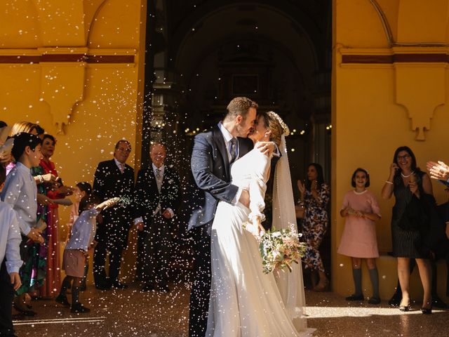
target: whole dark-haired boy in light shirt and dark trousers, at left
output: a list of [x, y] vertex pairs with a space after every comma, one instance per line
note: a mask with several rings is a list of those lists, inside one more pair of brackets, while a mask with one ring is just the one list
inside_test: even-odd
[[36, 183], [31, 176], [32, 166], [39, 165], [41, 159], [41, 139], [31, 133], [18, 133], [14, 137], [14, 145], [11, 153], [17, 159], [17, 164], [11, 173], [6, 176], [4, 189], [1, 191], [1, 200], [9, 204], [18, 215], [20, 232], [22, 233], [21, 257], [25, 261], [25, 266], [20, 270], [20, 276], [23, 282], [15, 298], [15, 308], [25, 315], [35, 315], [28, 310], [25, 305], [29, 291], [34, 291], [34, 280], [25, 278], [25, 275], [31, 275], [33, 266], [36, 265], [36, 251], [39, 249], [34, 244], [29, 244], [28, 239], [35, 243], [43, 243], [43, 237], [36, 229]]

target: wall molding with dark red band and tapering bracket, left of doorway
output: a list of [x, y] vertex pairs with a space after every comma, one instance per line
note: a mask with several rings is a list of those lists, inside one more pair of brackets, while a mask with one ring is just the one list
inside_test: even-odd
[[37, 67], [39, 100], [48, 103], [58, 134], [64, 134], [74, 106], [84, 98], [86, 68], [135, 67], [136, 49], [85, 47], [1, 49], [0, 67]]

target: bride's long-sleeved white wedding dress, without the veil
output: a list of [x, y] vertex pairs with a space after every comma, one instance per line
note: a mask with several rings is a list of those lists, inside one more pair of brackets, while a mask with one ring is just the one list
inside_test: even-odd
[[[211, 232], [212, 285], [206, 336], [303, 336], [272, 273], [262, 272], [259, 244], [242, 224], [263, 216], [271, 158], [252, 150], [231, 168], [232, 184], [250, 192], [250, 209], [220, 201]], [[298, 284], [298, 286], [302, 286]], [[303, 300], [303, 299], [302, 299]], [[305, 322], [305, 318], [304, 318]], [[307, 329], [307, 324], [302, 324]]]

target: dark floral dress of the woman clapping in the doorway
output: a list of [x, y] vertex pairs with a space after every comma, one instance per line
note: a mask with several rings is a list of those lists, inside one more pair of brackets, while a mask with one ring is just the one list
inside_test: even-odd
[[315, 199], [309, 190], [304, 192], [303, 206], [305, 207], [302, 235], [307, 243], [306, 253], [302, 259], [307, 267], [325, 272], [319, 248], [328, 227], [328, 202], [330, 189], [325, 183], [318, 190]]

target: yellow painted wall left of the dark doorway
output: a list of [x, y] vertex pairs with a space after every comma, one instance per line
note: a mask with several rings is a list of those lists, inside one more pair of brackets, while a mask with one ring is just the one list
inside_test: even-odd
[[[55, 161], [67, 185], [93, 183], [117, 140], [140, 146], [146, 1], [1, 1], [0, 58], [8, 55], [131, 55], [128, 63], [0, 63], [0, 120], [39, 123], [57, 138]], [[60, 207], [61, 239], [69, 208]], [[132, 270], [133, 254], [127, 252]]]

